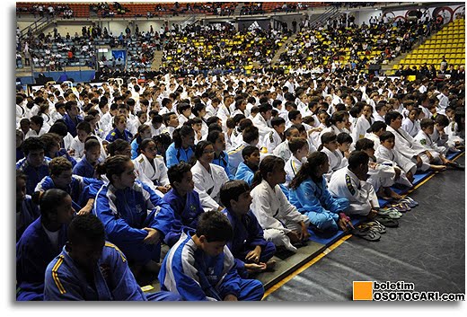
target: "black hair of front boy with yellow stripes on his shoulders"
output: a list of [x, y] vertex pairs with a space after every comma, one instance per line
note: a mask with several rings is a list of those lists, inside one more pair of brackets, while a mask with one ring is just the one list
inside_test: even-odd
[[68, 226], [68, 242], [72, 245], [101, 243], [105, 241], [105, 230], [101, 220], [93, 214], [75, 216]]

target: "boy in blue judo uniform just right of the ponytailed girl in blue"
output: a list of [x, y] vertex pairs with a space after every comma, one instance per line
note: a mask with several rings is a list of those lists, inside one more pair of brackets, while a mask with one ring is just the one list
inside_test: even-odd
[[196, 192], [191, 173], [191, 165], [181, 162], [172, 165], [167, 176], [172, 189], [163, 196], [163, 201], [173, 209], [172, 228], [165, 234], [164, 242], [169, 247], [179, 241], [183, 227], [195, 229], [198, 225], [198, 216], [204, 212]]

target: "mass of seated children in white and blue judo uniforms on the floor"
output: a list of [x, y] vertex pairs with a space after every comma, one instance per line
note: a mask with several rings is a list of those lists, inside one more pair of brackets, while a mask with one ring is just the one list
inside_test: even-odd
[[[233, 233], [214, 241], [228, 278], [260, 293], [234, 294], [258, 300], [251, 274], [274, 269], [276, 251], [296, 252], [309, 230], [379, 240], [377, 230], [350, 220], [394, 225], [414, 207], [394, 184], [410, 189], [418, 172], [463, 168], [446, 156], [464, 146], [464, 78], [412, 83], [265, 69], [254, 77], [163, 73], [142, 84], [74, 88], [45, 84], [29, 95], [17, 88], [18, 300], [120, 298], [74, 287], [90, 283], [100, 292], [107, 288], [97, 283], [108, 279], [78, 281], [53, 268], [75, 260], [78, 241], [65, 234], [75, 230], [74, 213], [98, 218], [100, 239], [108, 239], [101, 246], [128, 265], [132, 287], [158, 277], [163, 291], [176, 287], [183, 300], [213, 295], [186, 286], [189, 273], [172, 257], [193, 243], [204, 250], [198, 225], [207, 216], [219, 219], [223, 233], [230, 222]], [[378, 198], [390, 205], [380, 207]], [[165, 259], [162, 244], [173, 248]], [[171, 281], [171, 272], [184, 278]]]

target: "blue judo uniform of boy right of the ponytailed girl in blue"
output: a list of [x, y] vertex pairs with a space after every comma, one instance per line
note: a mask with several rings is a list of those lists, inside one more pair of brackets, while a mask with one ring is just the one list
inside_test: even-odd
[[199, 201], [198, 192], [195, 190], [188, 192], [186, 198], [182, 198], [177, 189], [172, 188], [163, 196], [163, 201], [173, 210], [172, 227], [163, 240], [169, 247], [172, 247], [179, 241], [183, 227], [197, 228], [198, 216], [204, 213], [204, 209]]

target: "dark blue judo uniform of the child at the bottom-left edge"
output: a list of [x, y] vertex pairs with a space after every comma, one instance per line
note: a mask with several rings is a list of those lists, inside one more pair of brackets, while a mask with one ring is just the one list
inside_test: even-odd
[[54, 246], [46, 230], [36, 219], [22, 233], [16, 243], [16, 293], [18, 301], [42, 301], [44, 296], [44, 273], [48, 263], [53, 260], [66, 243], [67, 225], [62, 225]]

